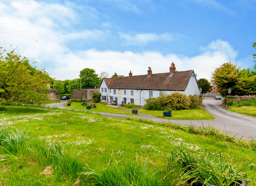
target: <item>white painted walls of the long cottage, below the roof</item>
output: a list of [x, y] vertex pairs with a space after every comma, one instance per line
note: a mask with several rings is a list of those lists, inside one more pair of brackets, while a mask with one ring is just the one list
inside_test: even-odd
[[[101, 88], [103, 88], [103, 92], [101, 92]], [[107, 88], [107, 92], [105, 92], [105, 89]], [[114, 100], [117, 97], [118, 98], [118, 105], [122, 104], [122, 101], [124, 101], [124, 98], [126, 98], [126, 103], [131, 103], [130, 99], [134, 99], [135, 105], [145, 105], [145, 99], [149, 98], [149, 91], [153, 91], [153, 97], [158, 97], [160, 91], [159, 90], [136, 90], [136, 89], [119, 89], [122, 91], [122, 94], [117, 94], [118, 89], [116, 89], [116, 94], [114, 94], [114, 89], [111, 89], [111, 93], [109, 92], [109, 89], [106, 85], [105, 80], [102, 81], [100, 86], [100, 93], [101, 95], [108, 96], [108, 101], [110, 101], [110, 97], [113, 97]], [[126, 90], [126, 95], [124, 95], [124, 90]], [[131, 91], [134, 91], [134, 95], [131, 95]], [[164, 91], [167, 94], [172, 94], [176, 91]], [[191, 76], [187, 88], [185, 91], [178, 91], [186, 95], [200, 95], [198, 85], [196, 83], [196, 79]]]

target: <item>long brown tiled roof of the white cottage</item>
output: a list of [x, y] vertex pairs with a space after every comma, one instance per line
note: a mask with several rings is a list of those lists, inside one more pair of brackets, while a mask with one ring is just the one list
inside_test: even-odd
[[120, 78], [105, 78], [109, 89], [142, 89], [142, 90], [166, 90], [184, 91], [187, 87], [193, 70], [170, 73], [158, 73]]

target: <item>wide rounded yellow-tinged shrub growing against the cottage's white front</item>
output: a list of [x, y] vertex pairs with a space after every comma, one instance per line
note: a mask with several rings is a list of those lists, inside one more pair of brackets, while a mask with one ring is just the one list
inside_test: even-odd
[[145, 101], [147, 110], [165, 110], [166, 107], [171, 110], [184, 110], [192, 107], [192, 100], [180, 92], [172, 94], [160, 92], [159, 97], [150, 97]]

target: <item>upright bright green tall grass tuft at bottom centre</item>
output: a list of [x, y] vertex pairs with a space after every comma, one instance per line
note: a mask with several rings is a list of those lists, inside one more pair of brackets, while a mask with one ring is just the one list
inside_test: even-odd
[[83, 173], [97, 186], [161, 186], [163, 185], [153, 172], [148, 172], [148, 158], [143, 162], [138, 159], [135, 164], [122, 165], [121, 161], [114, 159], [113, 152], [106, 168], [101, 166], [101, 170], [90, 169]]

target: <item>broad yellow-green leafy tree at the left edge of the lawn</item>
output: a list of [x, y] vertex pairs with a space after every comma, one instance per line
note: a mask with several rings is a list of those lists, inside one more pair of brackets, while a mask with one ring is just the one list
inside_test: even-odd
[[49, 75], [45, 69], [31, 68], [29, 59], [21, 57], [12, 49], [3, 57], [0, 48], [0, 103], [2, 105], [42, 104], [47, 102]]

